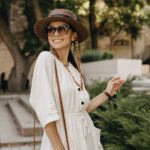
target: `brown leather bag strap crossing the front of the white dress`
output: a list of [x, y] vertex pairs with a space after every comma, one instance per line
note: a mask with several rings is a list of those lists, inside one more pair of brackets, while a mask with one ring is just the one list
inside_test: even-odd
[[57, 73], [57, 67], [56, 67], [55, 59], [54, 59], [54, 66], [55, 66], [56, 82], [57, 82], [59, 101], [60, 101], [60, 107], [61, 107], [61, 114], [62, 114], [65, 136], [66, 136], [66, 141], [67, 141], [67, 148], [69, 150], [69, 140], [68, 140], [67, 127], [66, 127], [66, 120], [65, 120], [65, 115], [64, 115], [65, 113], [64, 113], [64, 107], [63, 107], [63, 101], [62, 101], [62, 96], [61, 96], [61, 90], [60, 90], [60, 85], [59, 85], [59, 79], [58, 79], [58, 73]]

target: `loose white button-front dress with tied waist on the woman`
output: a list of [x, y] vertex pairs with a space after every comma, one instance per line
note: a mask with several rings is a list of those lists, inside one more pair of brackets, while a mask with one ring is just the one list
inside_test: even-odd
[[[64, 126], [58, 100], [58, 90], [54, 71], [56, 61], [58, 78], [63, 99], [70, 150], [103, 150], [100, 142], [100, 129], [96, 128], [86, 112], [90, 103], [87, 90], [80, 90], [73, 81], [70, 73], [50, 51], [41, 52], [34, 67], [30, 104], [35, 110], [44, 128], [48, 123], [56, 121], [61, 140], [67, 150]], [[77, 69], [69, 63], [69, 70], [80, 81]], [[41, 149], [54, 150], [50, 140], [44, 132]]]

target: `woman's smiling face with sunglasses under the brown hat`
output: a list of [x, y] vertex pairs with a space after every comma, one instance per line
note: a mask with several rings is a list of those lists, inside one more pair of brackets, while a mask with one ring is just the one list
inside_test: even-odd
[[69, 49], [71, 41], [76, 39], [76, 32], [73, 32], [65, 22], [52, 22], [48, 27], [48, 42], [57, 49]]

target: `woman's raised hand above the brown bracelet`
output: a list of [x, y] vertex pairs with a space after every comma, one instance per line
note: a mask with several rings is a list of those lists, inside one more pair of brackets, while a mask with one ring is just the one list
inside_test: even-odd
[[125, 80], [121, 77], [113, 77], [111, 80], [108, 81], [105, 91], [113, 96], [121, 88], [124, 82]]

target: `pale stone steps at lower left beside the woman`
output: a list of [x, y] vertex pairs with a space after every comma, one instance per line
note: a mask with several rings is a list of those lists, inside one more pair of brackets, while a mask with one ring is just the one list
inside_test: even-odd
[[[28, 95], [0, 96], [0, 150], [33, 150], [34, 111]], [[36, 150], [40, 149], [42, 127], [35, 117]]]

